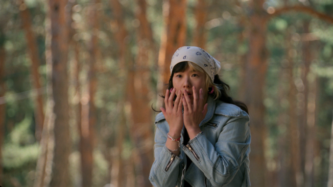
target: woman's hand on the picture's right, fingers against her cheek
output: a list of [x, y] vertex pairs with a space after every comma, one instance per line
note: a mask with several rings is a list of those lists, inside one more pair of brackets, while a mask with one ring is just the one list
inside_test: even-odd
[[207, 114], [207, 103], [203, 105], [203, 90], [199, 91], [199, 98], [196, 87], [193, 90], [193, 104], [186, 91], [184, 91], [183, 106], [184, 106], [184, 125], [187, 129], [189, 139], [193, 139], [199, 132], [199, 124]]

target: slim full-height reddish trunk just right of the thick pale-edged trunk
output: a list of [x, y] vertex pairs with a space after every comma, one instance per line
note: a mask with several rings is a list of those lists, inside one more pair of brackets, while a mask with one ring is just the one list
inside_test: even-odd
[[94, 125], [96, 124], [96, 106], [94, 104], [97, 90], [96, 64], [98, 61], [98, 31], [99, 20], [97, 16], [98, 1], [93, 0], [90, 7], [90, 25], [92, 26], [92, 36], [89, 44], [89, 70], [87, 88], [82, 97], [82, 120], [80, 129], [80, 152], [81, 152], [81, 172], [82, 186], [90, 187], [92, 184], [93, 167], [93, 144], [94, 144]]

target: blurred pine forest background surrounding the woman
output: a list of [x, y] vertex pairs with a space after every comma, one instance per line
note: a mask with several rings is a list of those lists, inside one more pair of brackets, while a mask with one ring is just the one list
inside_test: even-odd
[[252, 186], [333, 186], [333, 0], [0, 0], [0, 185], [151, 186], [185, 45], [249, 108]]

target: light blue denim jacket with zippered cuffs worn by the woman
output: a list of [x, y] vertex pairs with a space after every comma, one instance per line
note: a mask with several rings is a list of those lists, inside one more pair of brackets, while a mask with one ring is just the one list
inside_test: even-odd
[[[169, 125], [164, 115], [156, 116], [155, 162], [149, 176], [154, 186], [182, 187], [184, 179], [193, 187], [251, 185], [248, 114], [210, 96], [207, 103], [208, 112], [199, 124], [203, 133], [183, 146], [183, 127], [179, 156], [165, 146]], [[187, 170], [185, 154], [193, 161]]]

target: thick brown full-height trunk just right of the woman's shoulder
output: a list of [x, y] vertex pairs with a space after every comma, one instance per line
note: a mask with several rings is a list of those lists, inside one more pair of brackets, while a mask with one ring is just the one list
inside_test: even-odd
[[251, 153], [250, 178], [253, 186], [267, 186], [265, 162], [265, 142], [267, 130], [264, 120], [265, 106], [264, 88], [267, 73], [268, 51], [266, 49], [267, 25], [262, 6], [264, 1], [251, 2], [252, 14], [250, 17], [251, 30], [249, 36], [249, 51], [246, 61], [246, 89], [245, 103], [251, 118]]

